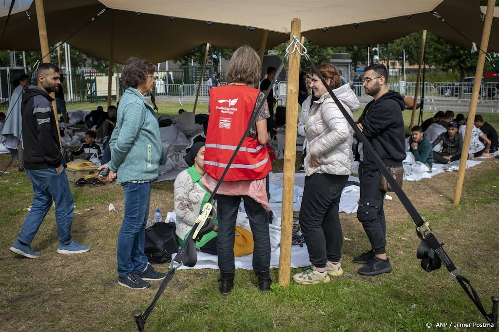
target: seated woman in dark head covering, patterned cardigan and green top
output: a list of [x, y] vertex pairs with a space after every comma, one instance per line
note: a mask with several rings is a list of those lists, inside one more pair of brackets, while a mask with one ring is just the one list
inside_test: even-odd
[[[185, 157], [187, 164], [191, 167], [182, 171], [175, 180], [174, 199], [175, 213], [177, 214], [175, 224], [180, 245], [184, 243], [203, 210], [203, 206], [208, 203], [210, 198], [203, 184], [199, 181], [206, 173], [203, 168], [204, 155], [205, 142], [195, 143]], [[196, 242], [197, 250], [211, 255], [217, 254], [217, 220], [215, 220], [215, 224], [216, 226], [211, 232], [204, 235], [201, 241]]]

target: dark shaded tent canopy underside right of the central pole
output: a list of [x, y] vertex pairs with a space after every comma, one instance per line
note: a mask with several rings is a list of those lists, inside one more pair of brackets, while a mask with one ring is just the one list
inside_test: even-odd
[[[484, 22], [480, 0], [444, 0], [435, 11], [452, 27], [464, 34], [468, 39], [480, 45]], [[496, 12], [499, 12], [496, 10]], [[322, 29], [304, 32], [305, 38], [315, 44], [326, 46], [348, 46], [387, 43], [409, 33], [428, 30], [444, 38], [455, 46], [470, 47], [471, 42], [455, 31], [451, 26], [442, 22], [429, 11], [411, 14], [411, 17], [399, 16], [386, 20], [375, 20], [360, 23], [329, 27], [328, 32]], [[499, 23], [492, 25], [489, 50], [499, 52]]]

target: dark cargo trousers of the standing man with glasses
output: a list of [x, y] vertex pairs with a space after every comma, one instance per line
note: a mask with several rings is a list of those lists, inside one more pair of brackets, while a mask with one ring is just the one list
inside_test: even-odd
[[386, 192], [379, 189], [379, 169], [362, 170], [359, 165], [360, 198], [357, 219], [362, 223], [364, 231], [376, 254], [384, 254], [386, 246], [386, 219], [383, 211], [383, 200]]

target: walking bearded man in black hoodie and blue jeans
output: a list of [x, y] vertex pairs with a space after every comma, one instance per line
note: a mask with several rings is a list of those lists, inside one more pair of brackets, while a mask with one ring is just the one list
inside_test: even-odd
[[61, 164], [61, 147], [53, 99], [48, 95], [60, 86], [59, 68], [50, 63], [38, 67], [38, 86], [30, 85], [22, 94], [22, 137], [24, 168], [33, 183], [33, 203], [10, 251], [27, 258], [39, 253], [31, 248], [41, 222], [55, 203], [55, 223], [59, 235], [58, 253], [72, 254], [90, 248], [76, 242], [70, 234], [73, 221], [73, 195]]

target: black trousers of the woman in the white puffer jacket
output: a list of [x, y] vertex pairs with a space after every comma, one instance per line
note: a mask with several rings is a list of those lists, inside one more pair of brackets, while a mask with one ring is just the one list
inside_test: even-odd
[[348, 175], [314, 173], [305, 177], [299, 222], [310, 262], [325, 267], [341, 258], [343, 233], [338, 215]]

